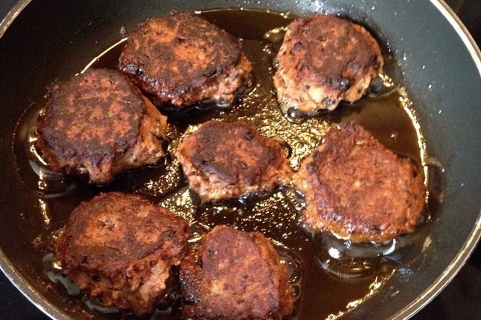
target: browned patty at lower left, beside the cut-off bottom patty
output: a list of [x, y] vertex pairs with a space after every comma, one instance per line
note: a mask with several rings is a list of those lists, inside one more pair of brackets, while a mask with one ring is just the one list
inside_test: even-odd
[[187, 226], [140, 196], [103, 193], [73, 210], [56, 254], [62, 271], [91, 297], [150, 313], [185, 253]]

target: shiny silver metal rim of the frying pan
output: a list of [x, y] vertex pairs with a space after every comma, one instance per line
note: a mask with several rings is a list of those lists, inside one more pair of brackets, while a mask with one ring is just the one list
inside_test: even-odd
[[[32, 0], [20, 0], [9, 11], [5, 18], [0, 22], [0, 38], [4, 35], [10, 24], [22, 12], [22, 10]], [[444, 0], [429, 0], [437, 10], [444, 16], [449, 24], [454, 28], [458, 36], [461, 38], [464, 46], [468, 49], [472, 60], [474, 61], [479, 75], [481, 76], [481, 51], [471, 34], [461, 22], [454, 11], [444, 2]], [[434, 297], [441, 292], [447, 284], [459, 272], [462, 266], [467, 261], [469, 255], [472, 253], [476, 244], [481, 237], [481, 209], [477, 216], [477, 221], [474, 224], [469, 237], [464, 242], [462, 248], [459, 250], [456, 257], [451, 261], [448, 268], [414, 301], [400, 310], [397, 314], [392, 316], [390, 320], [407, 319], [416, 314], [426, 304], [428, 304]], [[0, 270], [4, 272], [7, 278], [22, 292], [22, 294], [29, 299], [42, 312], [50, 316], [54, 320], [69, 320], [71, 319], [63, 310], [52, 304], [42, 294], [40, 294], [30, 283], [20, 275], [15, 266], [10, 262], [2, 248], [0, 248]]]

